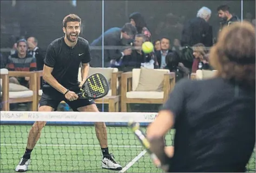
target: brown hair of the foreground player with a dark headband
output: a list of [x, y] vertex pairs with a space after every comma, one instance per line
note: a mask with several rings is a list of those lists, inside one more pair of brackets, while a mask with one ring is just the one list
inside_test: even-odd
[[249, 22], [225, 27], [210, 50], [217, 76], [255, 90], [255, 39], [255, 27]]

